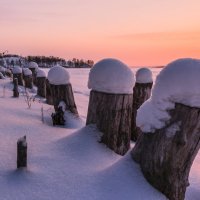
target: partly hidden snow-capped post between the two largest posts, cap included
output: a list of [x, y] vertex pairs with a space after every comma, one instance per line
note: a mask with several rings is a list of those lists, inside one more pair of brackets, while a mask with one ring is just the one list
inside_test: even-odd
[[136, 126], [136, 115], [138, 108], [151, 95], [153, 85], [152, 72], [148, 68], [140, 68], [136, 72], [136, 83], [133, 88], [133, 111], [131, 122], [131, 139], [136, 141], [141, 133], [141, 130]]

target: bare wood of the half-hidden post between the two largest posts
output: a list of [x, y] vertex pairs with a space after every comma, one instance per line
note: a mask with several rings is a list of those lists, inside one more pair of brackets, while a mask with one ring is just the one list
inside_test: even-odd
[[133, 88], [133, 110], [131, 120], [131, 139], [136, 141], [141, 133], [139, 127], [136, 126], [136, 116], [138, 108], [147, 100], [151, 95], [151, 88], [153, 83], [137, 83]]

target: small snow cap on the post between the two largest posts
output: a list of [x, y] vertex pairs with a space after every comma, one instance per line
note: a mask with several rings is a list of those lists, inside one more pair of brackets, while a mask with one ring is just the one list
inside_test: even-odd
[[140, 68], [136, 72], [136, 83], [152, 83], [152, 72], [148, 68]]

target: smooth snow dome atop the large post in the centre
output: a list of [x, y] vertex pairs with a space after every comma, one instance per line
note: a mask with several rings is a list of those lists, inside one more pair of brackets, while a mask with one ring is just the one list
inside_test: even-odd
[[124, 63], [113, 58], [97, 62], [89, 73], [88, 88], [111, 94], [132, 94], [134, 74]]

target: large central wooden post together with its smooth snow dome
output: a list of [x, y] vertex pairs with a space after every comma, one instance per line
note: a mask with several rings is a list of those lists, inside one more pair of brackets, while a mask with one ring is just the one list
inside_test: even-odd
[[101, 142], [120, 155], [130, 148], [134, 76], [121, 61], [104, 59], [90, 71], [86, 124], [96, 124]]

